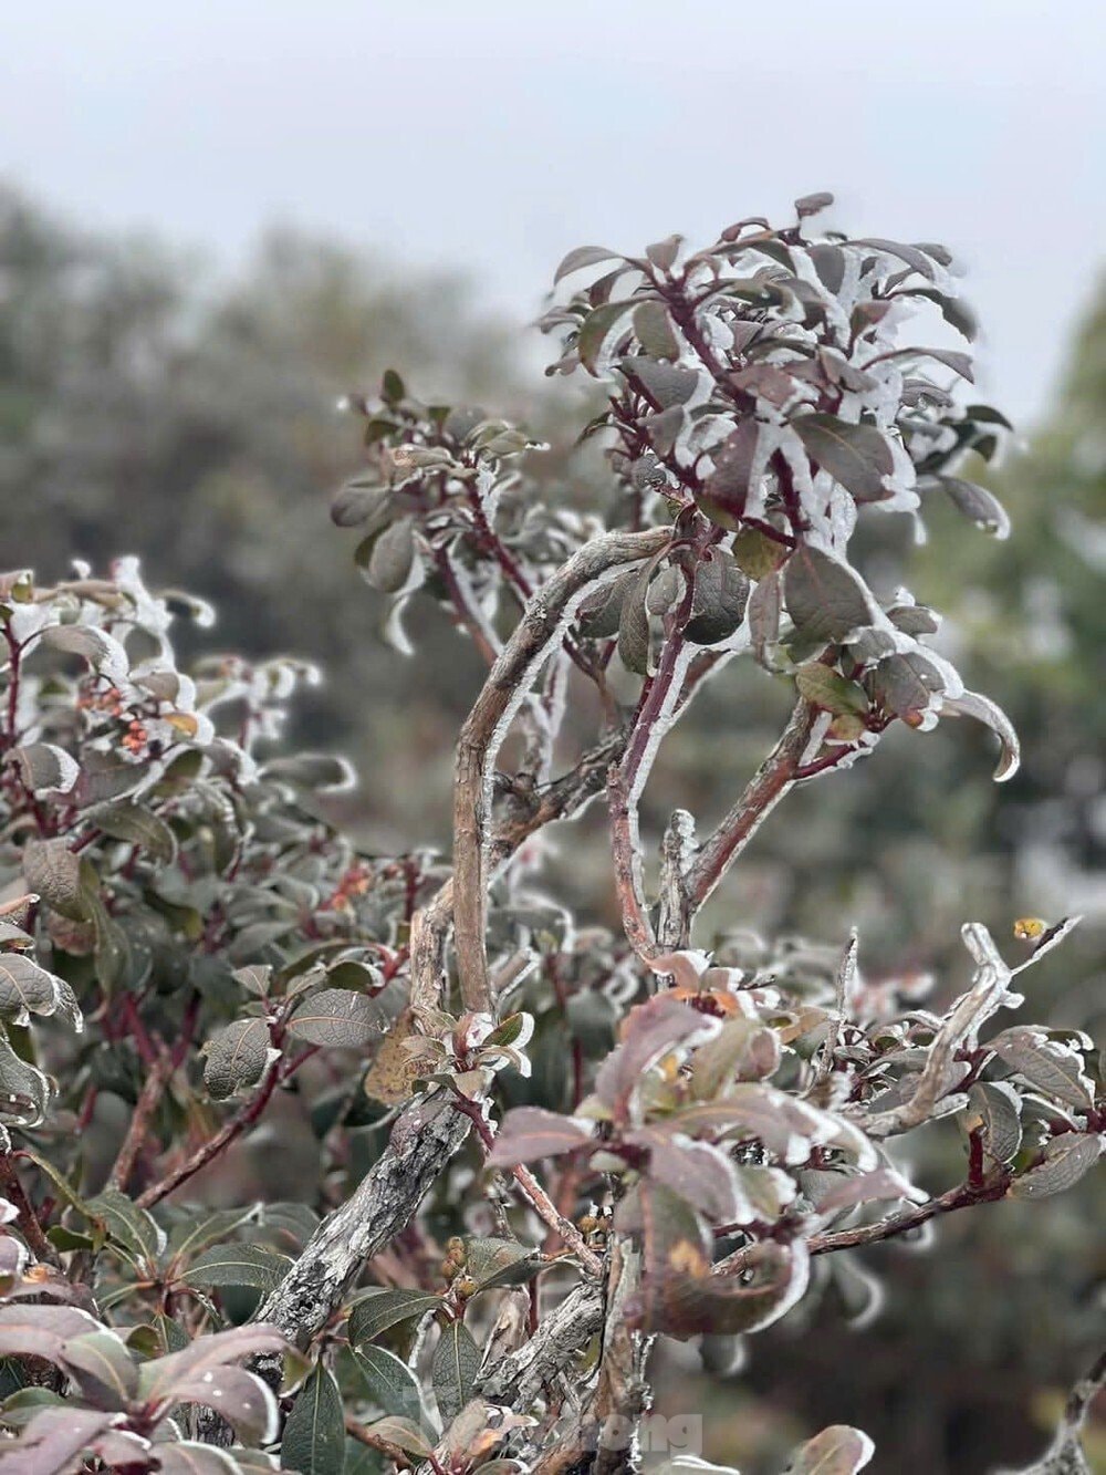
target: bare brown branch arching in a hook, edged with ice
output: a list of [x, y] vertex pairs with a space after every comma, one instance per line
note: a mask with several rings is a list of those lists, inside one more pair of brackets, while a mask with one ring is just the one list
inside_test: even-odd
[[577, 605], [609, 569], [652, 558], [668, 528], [609, 532], [575, 553], [526, 606], [518, 628], [488, 673], [457, 743], [453, 810], [453, 926], [466, 1009], [491, 1012], [494, 1002], [484, 943], [488, 885], [488, 816], [495, 755], [531, 681], [557, 649]]

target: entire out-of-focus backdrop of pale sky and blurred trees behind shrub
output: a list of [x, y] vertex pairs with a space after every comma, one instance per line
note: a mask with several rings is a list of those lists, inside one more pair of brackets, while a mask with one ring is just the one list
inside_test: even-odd
[[[948, 612], [1025, 763], [995, 788], [984, 729], [895, 733], [789, 801], [715, 920], [835, 943], [855, 922], [872, 972], [933, 969], [948, 997], [966, 917], [1010, 945], [1015, 917], [1081, 910], [1034, 974], [1035, 1015], [1102, 1030], [1105, 32], [1084, 0], [12, 10], [0, 566], [49, 580], [137, 552], [155, 587], [217, 605], [193, 648], [319, 662], [295, 736], [355, 761], [341, 817], [369, 845], [441, 847], [479, 662], [434, 611], [417, 665], [379, 640], [327, 519], [358, 463], [336, 398], [394, 364], [426, 398], [504, 409], [552, 441], [549, 496], [571, 496], [600, 473], [572, 448], [587, 401], [543, 378], [526, 327], [565, 251], [714, 239], [832, 189], [829, 223], [956, 251], [984, 324], [978, 397], [1023, 432], [1003, 468], [969, 469], [1010, 509], [1009, 543], [950, 510], [922, 549], [885, 519], [880, 552]], [[653, 833], [675, 802], [717, 808], [771, 743], [780, 692], [731, 670], [658, 768]], [[611, 920], [600, 819], [563, 850], [550, 889]], [[950, 1136], [919, 1171], [939, 1189], [959, 1162]], [[1102, 1336], [1103, 1208], [1084, 1180], [951, 1217], [939, 1258], [877, 1246], [874, 1322], [814, 1302], [724, 1382], [669, 1358], [661, 1407], [702, 1410], [703, 1453], [746, 1475], [827, 1422], [876, 1437], [874, 1475], [1025, 1462]]]

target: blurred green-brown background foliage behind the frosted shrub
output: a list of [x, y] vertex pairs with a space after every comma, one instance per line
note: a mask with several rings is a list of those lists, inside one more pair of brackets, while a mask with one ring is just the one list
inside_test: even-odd
[[[164, 242], [91, 236], [7, 187], [0, 563], [53, 578], [72, 558], [103, 566], [139, 553], [155, 587], [217, 605], [221, 648], [319, 662], [326, 681], [296, 738], [344, 751], [360, 770], [341, 819], [369, 847], [442, 847], [453, 735], [479, 664], [429, 609], [410, 621], [417, 664], [378, 639], [379, 596], [327, 519], [332, 491], [358, 463], [357, 426], [336, 401], [395, 366], [425, 400], [485, 404], [547, 438], [535, 471], [550, 497], [599, 497], [599, 460], [572, 448], [591, 407], [575, 386], [543, 382], [538, 363], [525, 335], [472, 310], [460, 280], [289, 232], [265, 236], [226, 279]], [[897, 732], [874, 760], [789, 799], [711, 923], [841, 943], [855, 922], [870, 974], [933, 971], [948, 996], [967, 974], [964, 919], [1010, 938], [1018, 916], [1084, 912], [1084, 928], [1032, 975], [1034, 1013], [1097, 1025], [1102, 1038], [1103, 410], [1106, 291], [1088, 283], [1051, 414], [1007, 466], [970, 472], [1009, 507], [1010, 541], [966, 530], [950, 507], [931, 519], [926, 546], [910, 546], [902, 519], [888, 518], [867, 550], [876, 584], [908, 575], [950, 612], [957, 664], [1022, 735], [1018, 779], [990, 782], [991, 739], [975, 723]], [[658, 767], [644, 810], [653, 836], [675, 804], [703, 823], [723, 810], [786, 708], [787, 693], [758, 670], [731, 665], [708, 687]], [[569, 845], [571, 866], [552, 860], [550, 889], [584, 917], [613, 920], [602, 817], [587, 817]], [[960, 1164], [950, 1128], [944, 1153], [916, 1170], [939, 1190]], [[849, 1328], [842, 1307], [826, 1304], [813, 1311], [817, 1336], [789, 1317], [723, 1381], [693, 1356], [669, 1357], [661, 1412], [700, 1409], [706, 1457], [749, 1475], [777, 1471], [789, 1446], [827, 1422], [866, 1428], [877, 1448], [895, 1450], [897, 1469], [926, 1475], [1028, 1457], [1102, 1330], [1100, 1183], [950, 1218], [939, 1257], [876, 1246], [867, 1268], [889, 1271], [880, 1316]], [[872, 1468], [892, 1466], [877, 1456]]]

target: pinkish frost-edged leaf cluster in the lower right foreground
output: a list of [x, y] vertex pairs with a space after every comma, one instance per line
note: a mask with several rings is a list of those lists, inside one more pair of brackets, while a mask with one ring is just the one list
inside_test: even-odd
[[[1106, 1118], [1091, 1041], [1031, 1025], [978, 1038], [994, 1009], [1022, 1002], [1010, 979], [1066, 931], [1051, 929], [1007, 969], [990, 935], [966, 928], [976, 976], [944, 1016], [889, 1016], [886, 994], [858, 975], [855, 941], [836, 969], [810, 948], [745, 968], [672, 954], [658, 966], [686, 982], [625, 1015], [591, 1094], [572, 1115], [509, 1111], [490, 1161], [571, 1155], [585, 1192], [616, 1184], [615, 1227], [639, 1233], [644, 1249], [640, 1329], [757, 1330], [807, 1291], [811, 1252], [841, 1249], [833, 1273], [864, 1283], [848, 1236], [833, 1239], [857, 1208], [931, 1204], [882, 1139], [917, 1124], [883, 1114], [919, 1097], [936, 1056], [947, 1059], [925, 1120], [956, 1117], [969, 1155], [963, 1190], [939, 1211], [1046, 1198], [1094, 1165]], [[855, 1245], [917, 1227], [929, 1208], [904, 1215], [863, 1227]], [[736, 1261], [746, 1277], [734, 1276]]]

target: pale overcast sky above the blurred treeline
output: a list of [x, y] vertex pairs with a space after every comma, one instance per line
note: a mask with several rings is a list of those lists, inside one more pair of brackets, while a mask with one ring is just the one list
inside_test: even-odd
[[265, 224], [534, 316], [572, 245], [774, 218], [953, 246], [984, 391], [1047, 404], [1103, 257], [1102, 0], [40, 0], [3, 173], [233, 263]]

